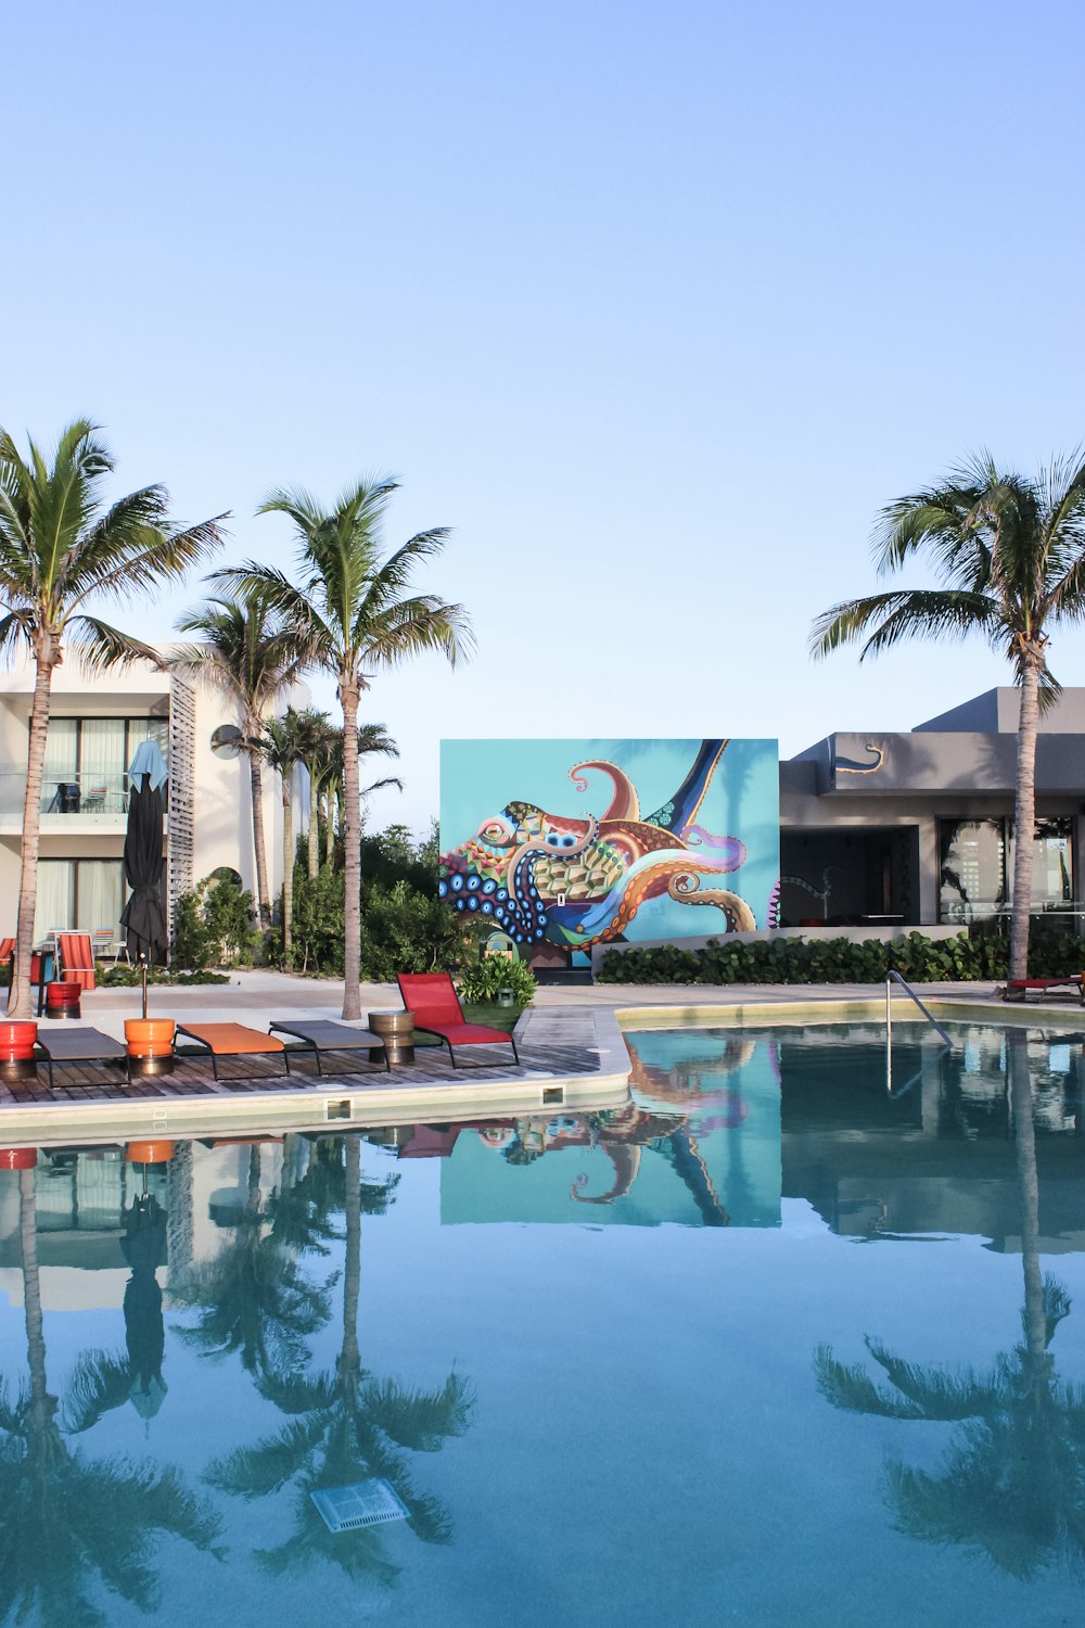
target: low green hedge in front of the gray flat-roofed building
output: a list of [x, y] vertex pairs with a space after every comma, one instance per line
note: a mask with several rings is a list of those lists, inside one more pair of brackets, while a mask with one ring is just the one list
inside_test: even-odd
[[[930, 939], [922, 933], [854, 944], [844, 938], [776, 938], [726, 943], [711, 938], [704, 949], [608, 951], [597, 974], [600, 983], [880, 983], [890, 969], [919, 983], [965, 983], [1004, 978], [1009, 944], [1004, 938]], [[1033, 978], [1082, 972], [1085, 939], [1077, 933], [1038, 934], [1030, 947]]]

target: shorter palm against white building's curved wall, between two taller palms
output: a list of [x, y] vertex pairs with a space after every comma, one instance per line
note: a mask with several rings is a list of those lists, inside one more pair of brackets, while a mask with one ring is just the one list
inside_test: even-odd
[[267, 596], [259, 593], [239, 599], [211, 597], [198, 610], [189, 610], [177, 627], [182, 633], [197, 633], [200, 641], [177, 650], [169, 666], [220, 690], [241, 716], [237, 749], [249, 759], [257, 902], [260, 926], [267, 931], [272, 925], [272, 894], [264, 843], [264, 770], [260, 752], [251, 742], [264, 729], [278, 697], [298, 677], [304, 653], [296, 630], [285, 627]]

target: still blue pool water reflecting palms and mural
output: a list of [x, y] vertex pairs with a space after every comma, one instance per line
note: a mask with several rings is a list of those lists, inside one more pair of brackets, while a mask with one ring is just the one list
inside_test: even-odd
[[1082, 1039], [898, 1034], [0, 1172], [0, 1620], [1077, 1623]]

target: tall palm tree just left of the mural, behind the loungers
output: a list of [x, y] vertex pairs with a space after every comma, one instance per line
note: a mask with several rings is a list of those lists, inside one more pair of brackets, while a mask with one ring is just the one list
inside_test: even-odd
[[472, 643], [464, 607], [436, 594], [408, 593], [415, 567], [441, 552], [447, 527], [421, 531], [382, 555], [384, 511], [397, 484], [363, 479], [324, 510], [307, 492], [273, 492], [262, 514], [286, 514], [298, 534], [298, 584], [249, 562], [215, 573], [234, 593], [265, 589], [275, 609], [306, 638], [312, 664], [330, 672], [343, 708], [343, 1017], [361, 1016], [361, 809], [358, 708], [377, 671], [428, 650], [454, 664]]

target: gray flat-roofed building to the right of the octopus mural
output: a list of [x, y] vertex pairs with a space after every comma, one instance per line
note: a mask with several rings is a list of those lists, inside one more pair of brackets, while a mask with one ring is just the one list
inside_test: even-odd
[[[965, 925], [1010, 904], [1018, 692], [908, 734], [841, 731], [779, 765], [781, 926]], [[1080, 921], [1085, 689], [1039, 721], [1033, 910]]]

